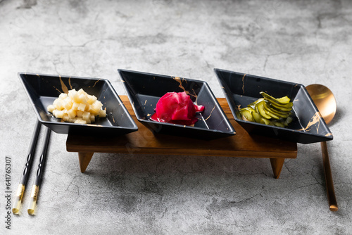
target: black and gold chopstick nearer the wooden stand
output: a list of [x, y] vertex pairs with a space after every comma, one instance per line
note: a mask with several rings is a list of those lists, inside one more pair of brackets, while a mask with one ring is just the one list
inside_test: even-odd
[[46, 152], [48, 150], [50, 134], [51, 134], [51, 129], [46, 127], [44, 141], [43, 141], [42, 154], [40, 155], [40, 158], [39, 158], [37, 174], [34, 179], [34, 184], [32, 186], [32, 192], [30, 193], [30, 203], [29, 203], [28, 210], [27, 210], [29, 215], [34, 215], [35, 207], [37, 205], [39, 186], [40, 186], [40, 183], [42, 182], [42, 175], [43, 175], [44, 168], [45, 168]]

